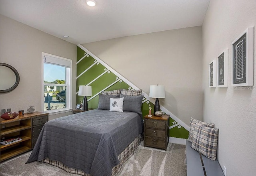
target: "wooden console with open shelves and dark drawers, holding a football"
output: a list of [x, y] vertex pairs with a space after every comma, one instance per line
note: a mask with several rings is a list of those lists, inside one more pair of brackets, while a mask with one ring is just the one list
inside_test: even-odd
[[48, 113], [24, 113], [14, 119], [0, 118], [0, 139], [20, 137], [22, 140], [8, 145], [0, 145], [0, 162], [32, 150], [43, 125], [48, 121]]

